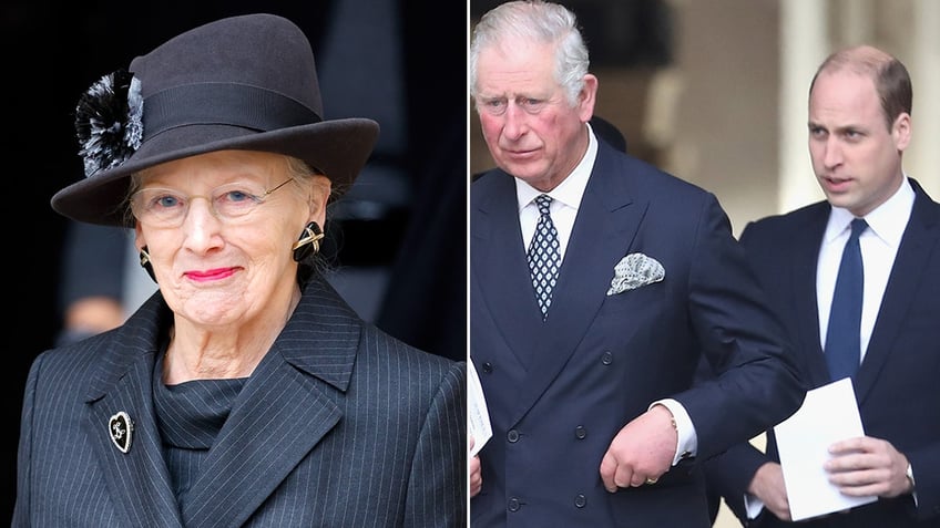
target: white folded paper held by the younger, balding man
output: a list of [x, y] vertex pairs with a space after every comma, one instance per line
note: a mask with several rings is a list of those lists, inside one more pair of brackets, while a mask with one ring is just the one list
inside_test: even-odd
[[776, 427], [777, 449], [793, 520], [841, 511], [878, 497], [849, 497], [829, 483], [822, 464], [831, 457], [829, 445], [865, 436], [851, 379], [806, 393], [803, 406]]

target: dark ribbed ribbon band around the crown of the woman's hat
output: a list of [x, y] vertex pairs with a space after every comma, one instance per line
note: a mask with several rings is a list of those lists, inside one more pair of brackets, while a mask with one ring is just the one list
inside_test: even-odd
[[186, 125], [273, 131], [320, 121], [307, 106], [269, 90], [233, 83], [186, 84], [144, 99], [143, 141]]

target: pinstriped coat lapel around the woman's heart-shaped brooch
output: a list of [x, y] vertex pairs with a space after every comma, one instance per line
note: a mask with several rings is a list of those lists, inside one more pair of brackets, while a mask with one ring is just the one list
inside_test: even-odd
[[[152, 380], [160, 320], [168, 311], [155, 296], [119, 331], [88, 393], [83, 429], [93, 445], [115, 508], [131, 526], [182, 527], [163, 462]], [[165, 324], [165, 322], [164, 322]], [[127, 453], [111, 439], [109, 422], [125, 412], [133, 422]]]

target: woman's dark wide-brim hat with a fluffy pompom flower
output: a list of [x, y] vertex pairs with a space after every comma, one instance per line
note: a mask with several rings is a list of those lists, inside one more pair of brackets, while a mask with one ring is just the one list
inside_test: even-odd
[[76, 108], [85, 178], [59, 190], [52, 208], [74, 220], [125, 225], [130, 176], [223, 149], [303, 159], [333, 183], [352, 185], [378, 123], [324, 120], [310, 43], [289, 20], [247, 14], [182, 33], [105, 75]]

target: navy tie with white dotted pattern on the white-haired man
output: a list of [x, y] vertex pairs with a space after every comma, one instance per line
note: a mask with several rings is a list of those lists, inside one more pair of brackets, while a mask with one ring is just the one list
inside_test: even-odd
[[539, 224], [535, 226], [535, 235], [529, 245], [529, 271], [532, 275], [532, 287], [535, 288], [535, 300], [542, 310], [542, 321], [549, 317], [549, 307], [552, 304], [552, 289], [558, 280], [558, 271], [561, 267], [561, 252], [559, 251], [558, 230], [552, 224], [549, 213], [552, 197], [539, 195], [535, 198], [539, 206]]

